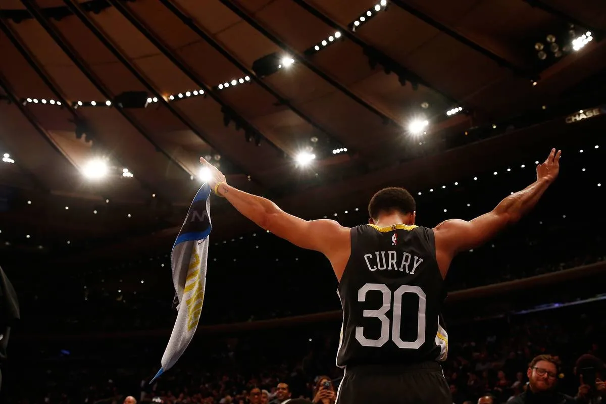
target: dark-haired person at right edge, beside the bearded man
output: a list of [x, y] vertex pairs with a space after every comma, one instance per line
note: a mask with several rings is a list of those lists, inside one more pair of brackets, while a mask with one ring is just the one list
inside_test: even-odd
[[606, 403], [606, 384], [602, 377], [604, 362], [601, 359], [590, 354], [581, 355], [574, 365], [574, 374], [579, 376], [580, 383], [577, 403]]

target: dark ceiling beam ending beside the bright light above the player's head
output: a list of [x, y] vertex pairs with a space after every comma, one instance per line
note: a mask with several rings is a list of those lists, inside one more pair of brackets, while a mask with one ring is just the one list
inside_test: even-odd
[[219, 0], [219, 1], [221, 2], [221, 4], [225, 5], [225, 7], [229, 8], [231, 10], [231, 12], [233, 12], [237, 16], [239, 16], [239, 18], [241, 18], [243, 21], [247, 22], [248, 25], [255, 28], [255, 30], [259, 31], [259, 33], [261, 33], [261, 35], [265, 36], [265, 38], [269, 39], [271, 42], [276, 44], [278, 47], [280, 47], [283, 50], [290, 53], [291, 57], [293, 57], [296, 61], [303, 64], [305, 67], [307, 67], [309, 70], [313, 71], [313, 73], [315, 73], [317, 76], [319, 76], [319, 78], [323, 79], [328, 84], [332, 85], [333, 87], [335, 87], [336, 89], [341, 91], [341, 93], [345, 94], [345, 96], [351, 98], [353, 101], [362, 105], [362, 107], [366, 108], [371, 113], [379, 116], [379, 118], [381, 118], [386, 124], [391, 123], [391, 124], [396, 125], [397, 127], [402, 127], [402, 122], [400, 122], [399, 119], [397, 119], [395, 116], [392, 116], [389, 113], [385, 113], [384, 111], [375, 107], [375, 105], [372, 105], [370, 102], [366, 101], [358, 94], [353, 93], [353, 91], [349, 90], [344, 84], [341, 84], [341, 82], [337, 81], [337, 79], [332, 78], [331, 76], [327, 75], [327, 73], [325, 73], [320, 68], [318, 68], [315, 64], [313, 64], [313, 62], [311, 62], [311, 59], [308, 58], [308, 56], [297, 51], [295, 48], [291, 47], [286, 42], [282, 41], [282, 39], [278, 38], [278, 36], [271, 33], [266, 27], [264, 27], [264, 25], [257, 22], [255, 20], [255, 18], [253, 18], [250, 14], [248, 14], [248, 12], [246, 10], [242, 9], [242, 7], [234, 4], [230, 0]]

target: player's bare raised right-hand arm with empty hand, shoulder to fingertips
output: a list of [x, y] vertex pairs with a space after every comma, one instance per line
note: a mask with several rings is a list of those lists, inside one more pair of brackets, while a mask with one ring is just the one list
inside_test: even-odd
[[436, 226], [436, 259], [442, 276], [460, 251], [479, 247], [505, 227], [518, 222], [539, 202], [542, 194], [558, 177], [561, 150], [555, 149], [536, 168], [537, 180], [524, 190], [507, 196], [492, 211], [473, 220], [450, 219]]

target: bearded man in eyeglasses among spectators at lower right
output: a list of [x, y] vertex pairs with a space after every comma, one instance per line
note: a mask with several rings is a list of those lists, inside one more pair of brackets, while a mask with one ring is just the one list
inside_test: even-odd
[[528, 364], [528, 388], [509, 404], [573, 404], [576, 401], [556, 392], [560, 361], [551, 355], [539, 355]]

